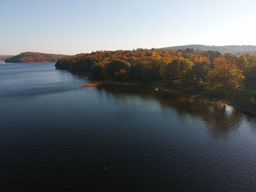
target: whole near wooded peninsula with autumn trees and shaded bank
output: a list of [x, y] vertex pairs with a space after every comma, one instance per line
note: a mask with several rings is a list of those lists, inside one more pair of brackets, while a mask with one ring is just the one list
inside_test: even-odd
[[56, 69], [93, 80], [137, 82], [223, 100], [256, 113], [256, 55], [215, 50], [138, 49], [97, 51], [60, 58]]

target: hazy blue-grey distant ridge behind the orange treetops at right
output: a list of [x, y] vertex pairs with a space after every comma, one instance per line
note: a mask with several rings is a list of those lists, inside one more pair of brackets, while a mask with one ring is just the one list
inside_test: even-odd
[[233, 53], [241, 55], [243, 53], [256, 53], [256, 46], [254, 45], [225, 45], [225, 46], [207, 46], [207, 45], [183, 45], [164, 47], [167, 50], [179, 50], [179, 49], [193, 49], [193, 50], [217, 50], [221, 53]]

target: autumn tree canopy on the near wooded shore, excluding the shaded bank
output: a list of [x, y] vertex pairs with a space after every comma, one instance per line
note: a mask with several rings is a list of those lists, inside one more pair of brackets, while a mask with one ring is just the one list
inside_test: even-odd
[[226, 94], [256, 77], [256, 55], [189, 48], [97, 51], [60, 58], [56, 68], [90, 73], [100, 80], [195, 82], [212, 90], [222, 88]]

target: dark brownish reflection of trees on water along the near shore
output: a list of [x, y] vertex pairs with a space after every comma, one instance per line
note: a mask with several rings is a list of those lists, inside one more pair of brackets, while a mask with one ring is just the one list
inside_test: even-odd
[[98, 90], [122, 99], [129, 96], [140, 96], [145, 100], [155, 99], [162, 109], [176, 110], [181, 119], [189, 116], [193, 119], [203, 120], [213, 137], [228, 137], [240, 126], [243, 117], [239, 110], [225, 104], [187, 97], [178, 93], [154, 91], [153, 88], [145, 88], [140, 85], [104, 85]]

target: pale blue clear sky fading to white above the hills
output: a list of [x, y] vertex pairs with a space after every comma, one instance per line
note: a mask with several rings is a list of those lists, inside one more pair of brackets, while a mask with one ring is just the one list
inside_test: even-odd
[[255, 0], [0, 0], [0, 55], [256, 45]]

